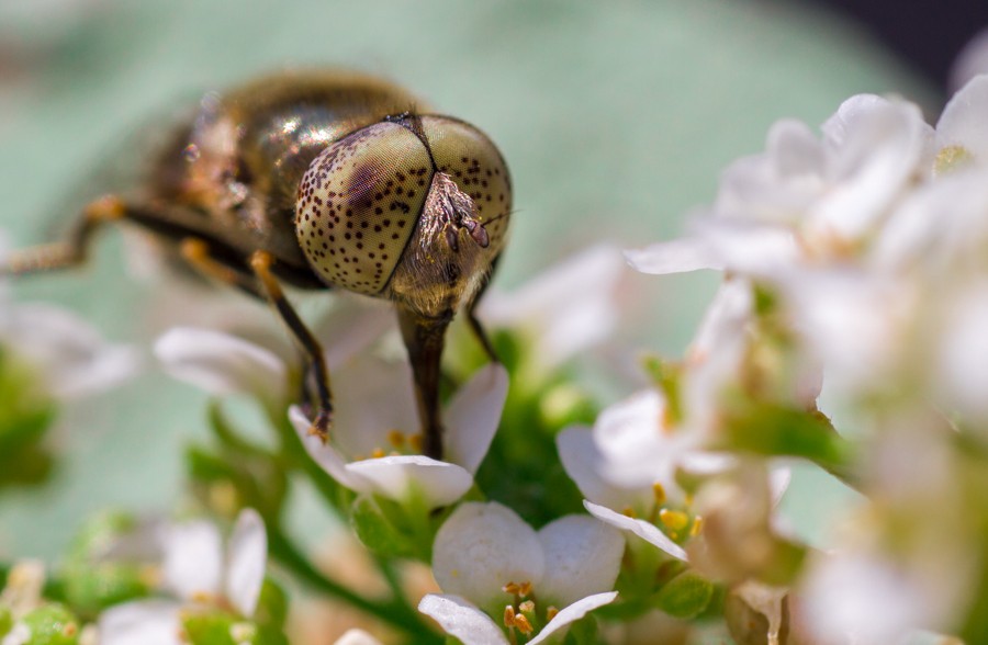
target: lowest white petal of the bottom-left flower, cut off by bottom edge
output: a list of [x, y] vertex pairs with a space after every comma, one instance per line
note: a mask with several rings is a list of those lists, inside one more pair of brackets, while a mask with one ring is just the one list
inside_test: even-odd
[[181, 606], [169, 600], [139, 600], [100, 614], [100, 645], [181, 645]]

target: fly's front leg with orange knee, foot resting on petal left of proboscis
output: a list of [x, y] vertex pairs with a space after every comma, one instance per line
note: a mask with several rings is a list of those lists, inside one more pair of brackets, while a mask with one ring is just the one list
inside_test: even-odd
[[294, 336], [302, 351], [308, 360], [313, 376], [315, 377], [316, 396], [319, 400], [319, 411], [312, 425], [310, 432], [317, 434], [323, 441], [329, 437], [329, 426], [333, 419], [333, 396], [329, 391], [329, 371], [326, 367], [326, 358], [323, 347], [312, 335], [291, 303], [281, 290], [278, 279], [271, 273], [271, 264], [274, 258], [267, 251], [255, 251], [250, 256], [250, 269], [260, 282], [261, 288], [268, 302], [278, 310], [278, 315], [284, 320], [289, 330]]

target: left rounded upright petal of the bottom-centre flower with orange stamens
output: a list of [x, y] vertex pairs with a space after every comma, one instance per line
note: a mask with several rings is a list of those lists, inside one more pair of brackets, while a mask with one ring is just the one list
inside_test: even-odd
[[502, 587], [531, 582], [546, 570], [536, 532], [497, 502], [467, 502], [446, 520], [433, 545], [433, 575], [439, 587], [478, 606], [509, 600]]

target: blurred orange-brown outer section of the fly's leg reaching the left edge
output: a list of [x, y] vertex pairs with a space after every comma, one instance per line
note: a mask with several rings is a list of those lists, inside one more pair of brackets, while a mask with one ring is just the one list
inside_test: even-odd
[[67, 240], [11, 251], [0, 262], [0, 274], [24, 275], [78, 267], [86, 261], [93, 233], [102, 224], [126, 215], [127, 207], [120, 197], [100, 197], [86, 206]]

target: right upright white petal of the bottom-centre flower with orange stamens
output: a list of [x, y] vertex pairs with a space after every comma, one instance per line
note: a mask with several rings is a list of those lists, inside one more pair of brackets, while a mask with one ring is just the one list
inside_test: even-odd
[[557, 607], [610, 591], [621, 568], [620, 531], [586, 516], [565, 516], [539, 530], [546, 575], [536, 592]]

